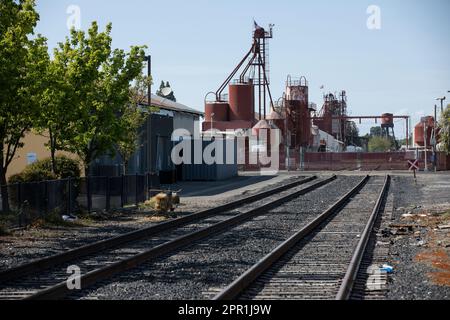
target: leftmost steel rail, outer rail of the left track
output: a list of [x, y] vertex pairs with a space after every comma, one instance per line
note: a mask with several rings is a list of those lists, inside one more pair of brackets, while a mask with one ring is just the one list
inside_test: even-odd
[[45, 269], [54, 267], [59, 264], [66, 263], [68, 261], [81, 258], [90, 254], [98, 253], [103, 250], [112, 249], [115, 247], [118, 247], [120, 245], [123, 245], [125, 243], [129, 243], [135, 240], [144, 239], [146, 237], [150, 237], [153, 235], [156, 235], [158, 233], [170, 230], [172, 228], [180, 227], [187, 225], [191, 222], [199, 221], [203, 218], [214, 216], [217, 214], [220, 214], [224, 211], [228, 211], [234, 208], [237, 208], [239, 206], [242, 206], [244, 204], [253, 203], [255, 201], [264, 199], [268, 196], [298, 187], [300, 185], [306, 184], [308, 182], [311, 182], [313, 180], [316, 180], [317, 176], [312, 176], [306, 179], [302, 179], [299, 181], [295, 181], [289, 184], [286, 184], [284, 186], [280, 186], [268, 191], [260, 192], [258, 194], [245, 197], [244, 199], [233, 201], [215, 208], [203, 210], [197, 213], [193, 213], [190, 215], [187, 215], [185, 217], [177, 218], [171, 221], [163, 222], [160, 224], [157, 224], [155, 226], [151, 226], [148, 228], [140, 229], [137, 231], [132, 231], [130, 233], [126, 233], [124, 235], [119, 235], [116, 237], [112, 237], [106, 240], [98, 241], [86, 246], [82, 246], [79, 248], [75, 248], [60, 254], [56, 254], [50, 257], [46, 257], [43, 259], [39, 259], [36, 261], [32, 261], [30, 263], [26, 263], [14, 268], [10, 268], [7, 270], [4, 270], [0, 272], [0, 283], [19, 279], [21, 277], [34, 274], [39, 271], [43, 271]]

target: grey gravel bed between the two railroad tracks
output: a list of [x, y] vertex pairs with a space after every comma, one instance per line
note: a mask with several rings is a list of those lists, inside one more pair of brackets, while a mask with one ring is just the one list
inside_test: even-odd
[[209, 299], [360, 180], [361, 177], [339, 178], [228, 232], [82, 291], [78, 297]]

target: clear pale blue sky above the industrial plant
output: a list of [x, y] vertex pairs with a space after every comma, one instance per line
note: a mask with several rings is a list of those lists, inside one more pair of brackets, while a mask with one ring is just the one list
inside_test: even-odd
[[[322, 90], [346, 90], [353, 115], [431, 114], [435, 98], [450, 90], [448, 0], [37, 0], [38, 32], [50, 48], [69, 31], [70, 5], [81, 9], [81, 28], [113, 23], [114, 47], [147, 45], [155, 86], [170, 81], [179, 102], [203, 110], [251, 45], [253, 19], [274, 23], [270, 43], [272, 91], [286, 76], [304, 75], [310, 100]], [[381, 9], [381, 30], [369, 30], [369, 5]], [[363, 132], [373, 124], [361, 126]], [[403, 131], [398, 123], [398, 135]]]

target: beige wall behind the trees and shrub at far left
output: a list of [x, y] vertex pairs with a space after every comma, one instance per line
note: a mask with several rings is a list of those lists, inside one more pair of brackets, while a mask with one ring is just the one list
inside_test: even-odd
[[[37, 160], [43, 160], [45, 158], [50, 158], [51, 156], [50, 151], [45, 146], [48, 142], [48, 138], [43, 135], [30, 132], [25, 135], [25, 138], [22, 141], [25, 145], [23, 148], [17, 150], [13, 161], [8, 167], [6, 179], [9, 179], [9, 177], [14, 174], [22, 172], [26, 168], [28, 165], [27, 155], [29, 153], [35, 153]], [[65, 155], [72, 159], [77, 159], [76, 155], [67, 152], [58, 152], [57, 155]]]

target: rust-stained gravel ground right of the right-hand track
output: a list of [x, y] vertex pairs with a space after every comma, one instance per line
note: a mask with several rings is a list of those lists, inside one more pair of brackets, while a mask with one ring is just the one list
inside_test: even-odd
[[[393, 179], [395, 211], [390, 259], [395, 271], [387, 299], [450, 299], [450, 232], [438, 228], [450, 223], [450, 211], [442, 214], [450, 209], [448, 182], [445, 176], [419, 177], [417, 185], [412, 177]], [[433, 196], [427, 190], [431, 185]]]

